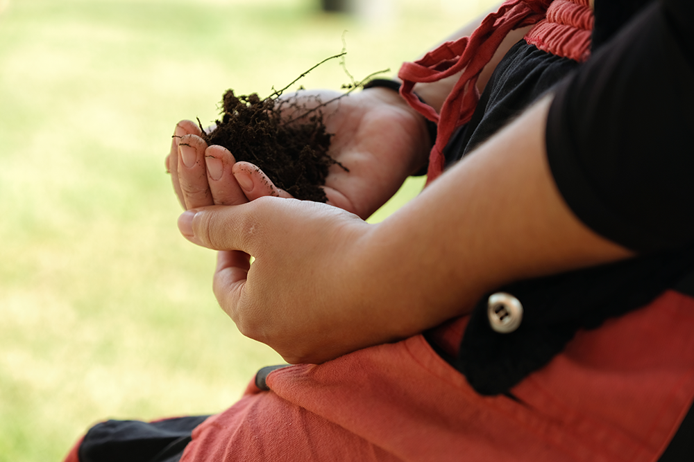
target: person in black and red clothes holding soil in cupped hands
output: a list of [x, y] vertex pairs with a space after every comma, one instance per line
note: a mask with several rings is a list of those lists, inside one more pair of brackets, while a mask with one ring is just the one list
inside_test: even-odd
[[68, 460], [691, 459], [693, 9], [596, 0], [593, 28], [584, 0], [507, 1], [326, 109], [350, 168], [329, 204], [179, 123], [178, 227], [218, 251], [239, 330], [294, 365], [216, 416], [97, 425]]

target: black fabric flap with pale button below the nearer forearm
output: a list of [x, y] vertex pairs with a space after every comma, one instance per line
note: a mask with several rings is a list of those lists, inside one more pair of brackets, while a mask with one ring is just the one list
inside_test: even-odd
[[523, 305], [514, 332], [492, 330], [487, 296], [471, 315], [455, 366], [483, 395], [505, 393], [545, 366], [575, 332], [648, 305], [694, 274], [694, 246], [500, 287]]

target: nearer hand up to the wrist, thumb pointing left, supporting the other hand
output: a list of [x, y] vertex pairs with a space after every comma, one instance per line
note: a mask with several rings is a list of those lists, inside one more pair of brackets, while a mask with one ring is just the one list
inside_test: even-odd
[[360, 242], [375, 225], [356, 215], [262, 197], [187, 211], [178, 226], [192, 242], [220, 250], [213, 284], [219, 304], [244, 335], [287, 362], [319, 363], [397, 337], [388, 328], [397, 321], [380, 319], [384, 312], [362, 293], [358, 278], [369, 263]]

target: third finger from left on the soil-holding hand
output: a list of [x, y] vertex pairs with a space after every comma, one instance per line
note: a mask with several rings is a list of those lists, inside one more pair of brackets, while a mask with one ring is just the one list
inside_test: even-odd
[[232, 168], [236, 159], [228, 149], [213, 145], [205, 150], [205, 166], [214, 205], [238, 205], [248, 202]]

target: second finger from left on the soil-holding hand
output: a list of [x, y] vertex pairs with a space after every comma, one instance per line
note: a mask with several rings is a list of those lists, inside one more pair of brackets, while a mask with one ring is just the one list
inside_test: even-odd
[[200, 136], [187, 134], [178, 142], [178, 183], [185, 208], [214, 204], [205, 168], [207, 143]]

